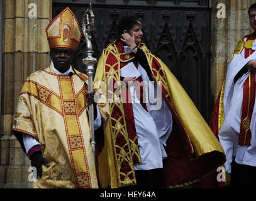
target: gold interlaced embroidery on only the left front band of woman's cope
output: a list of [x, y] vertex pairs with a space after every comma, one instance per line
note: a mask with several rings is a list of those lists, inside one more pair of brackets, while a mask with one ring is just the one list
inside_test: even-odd
[[[109, 51], [109, 48], [111, 51]], [[110, 53], [113, 53], [114, 55], [118, 55], [118, 48], [116, 47], [115, 44], [113, 44], [113, 46], [109, 46], [108, 50], [104, 50], [103, 54], [105, 58], [108, 58], [108, 55]], [[108, 70], [108, 72], [104, 71], [105, 75], [104, 77], [106, 78], [106, 80], [111, 80], [114, 79], [115, 82], [120, 81], [120, 60], [118, 60], [118, 62], [114, 63], [114, 65], [109, 65], [108, 63], [106, 64], [110, 69]], [[115, 68], [117, 67], [117, 70], [115, 70]], [[118, 94], [118, 96], [116, 95]], [[119, 119], [110, 119], [111, 122], [111, 133], [113, 134], [112, 137], [112, 141], [114, 144], [114, 157], [115, 157], [115, 163], [116, 163], [116, 175], [117, 175], [117, 180], [118, 180], [118, 186], [122, 187], [125, 185], [129, 185], [131, 183], [135, 183], [135, 171], [134, 171], [134, 166], [133, 166], [133, 159], [132, 159], [132, 155], [137, 155], [139, 156], [139, 160], [140, 159], [140, 153], [138, 148], [135, 148], [135, 146], [133, 146], [133, 148], [131, 148], [130, 146], [130, 140], [128, 138], [128, 131], [126, 128], [126, 121], [125, 121], [125, 112], [123, 109], [123, 103], [121, 102], [122, 100], [122, 95], [121, 95], [121, 86], [118, 87], [118, 89], [111, 91], [108, 89], [107, 92], [107, 99], [113, 99], [114, 102], [113, 103], [109, 103], [109, 111], [113, 111], [114, 107], [118, 107], [118, 109], [120, 109], [122, 116]], [[125, 139], [126, 143], [123, 145], [123, 147], [117, 146], [116, 145], [116, 138], [118, 136], [118, 134], [123, 136], [123, 139]], [[119, 153], [116, 153], [116, 149], [120, 149]], [[128, 149], [128, 151], [126, 152], [125, 150]], [[132, 153], [132, 154], [131, 154]], [[123, 161], [126, 162], [126, 164], [128, 163], [128, 165], [131, 168], [131, 171], [128, 172], [126, 175], [124, 173], [121, 172], [121, 165], [123, 163]], [[132, 175], [132, 179], [129, 177], [130, 175]], [[121, 180], [121, 177], [125, 177], [124, 180]]]

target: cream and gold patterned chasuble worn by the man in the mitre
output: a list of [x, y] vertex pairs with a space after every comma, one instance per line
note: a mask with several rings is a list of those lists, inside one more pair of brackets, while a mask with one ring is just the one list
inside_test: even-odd
[[[79, 73], [87, 83], [86, 75]], [[42, 178], [35, 188], [97, 188], [97, 175], [90, 144], [85, 94], [87, 85], [77, 76], [57, 75], [52, 66], [39, 70], [21, 90], [14, 118], [16, 135], [26, 133], [41, 145]], [[108, 106], [99, 96], [101, 117], [108, 119]]]

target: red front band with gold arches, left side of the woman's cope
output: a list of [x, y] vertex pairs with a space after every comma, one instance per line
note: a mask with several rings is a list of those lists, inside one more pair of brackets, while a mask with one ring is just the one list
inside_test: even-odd
[[[108, 80], [109, 99], [111, 99], [112, 94], [118, 93], [118, 88], [116, 88], [118, 87], [117, 82], [120, 81], [120, 71], [118, 69], [124, 67], [128, 60], [135, 57], [133, 52], [124, 53], [125, 50], [121, 40], [118, 40], [115, 45], [120, 53], [119, 58], [114, 53], [109, 53], [106, 60], [108, 65], [105, 66], [105, 79]], [[111, 72], [114, 73], [111, 74]], [[130, 90], [122, 89], [120, 92], [122, 102], [120, 104], [115, 101], [109, 103], [109, 108], [111, 109], [111, 134], [113, 134], [111, 138], [113, 140], [118, 187], [136, 183], [133, 164], [141, 162]], [[116, 127], [119, 127], [119, 129], [116, 129]]]

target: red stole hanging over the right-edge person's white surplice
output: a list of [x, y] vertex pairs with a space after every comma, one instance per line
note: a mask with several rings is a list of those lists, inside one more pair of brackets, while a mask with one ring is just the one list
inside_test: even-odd
[[[247, 37], [248, 40], [255, 40], [255, 33]], [[255, 50], [245, 48], [245, 58], [249, 57]], [[250, 73], [247, 80], [243, 84], [243, 104], [242, 117], [240, 124], [240, 134], [238, 139], [239, 145], [250, 146], [252, 133], [250, 131], [250, 122], [252, 119], [252, 112], [255, 102], [255, 73]]]

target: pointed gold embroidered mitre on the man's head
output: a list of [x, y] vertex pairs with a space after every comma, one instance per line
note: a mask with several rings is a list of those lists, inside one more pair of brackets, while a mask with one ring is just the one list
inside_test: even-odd
[[52, 48], [70, 48], [77, 50], [82, 31], [69, 7], [61, 11], [46, 28], [47, 40]]

